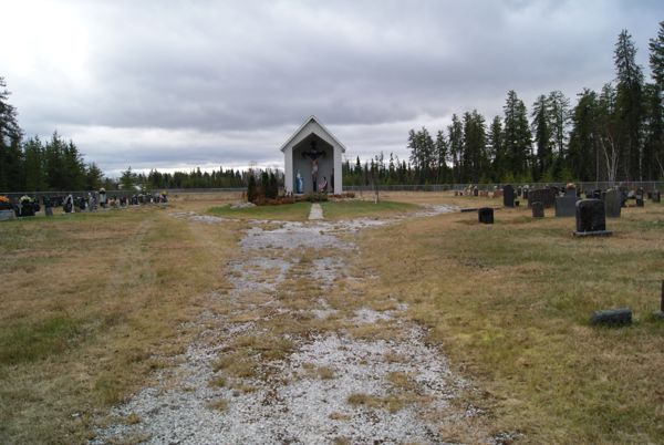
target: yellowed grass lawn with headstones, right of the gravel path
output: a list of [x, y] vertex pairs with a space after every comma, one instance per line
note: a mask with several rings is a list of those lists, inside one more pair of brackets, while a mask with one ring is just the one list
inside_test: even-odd
[[[533, 220], [527, 208], [498, 210], [492, 226], [469, 213], [366, 231], [362, 266], [381, 286], [363, 292], [409, 304], [429, 340], [486, 391], [476, 403], [497, 431], [529, 443], [663, 443], [664, 322], [652, 312], [664, 206], [623, 211], [608, 220], [611, 238], [575, 239], [573, 218]], [[593, 310], [618, 307], [634, 310], [632, 327], [588, 323]]]

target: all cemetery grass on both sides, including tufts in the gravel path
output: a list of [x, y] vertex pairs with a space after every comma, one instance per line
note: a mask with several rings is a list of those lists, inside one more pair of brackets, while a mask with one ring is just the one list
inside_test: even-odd
[[[433, 193], [382, 198], [500, 204]], [[214, 310], [206, 297], [228, 289], [225, 265], [239, 255], [247, 225], [196, 224], [167, 213], [234, 199], [174, 197], [166, 209], [0, 224], [0, 443], [85, 442], [98, 414], [183, 351], [195, 334], [183, 322]], [[324, 211], [335, 219], [414, 208], [380, 206], [328, 203]], [[292, 219], [309, 213], [307, 203], [274, 208]], [[272, 218], [282, 219], [264, 217]], [[517, 208], [497, 210], [492, 226], [478, 225], [475, 213], [449, 214], [347, 235], [361, 246], [349, 270], [376, 279], [344, 283], [329, 302], [349, 317], [360, 307], [388, 309], [387, 296], [407, 302], [408, 317], [429, 328], [428, 341], [479, 389], [463, 402], [490, 413], [491, 431], [520, 432], [526, 443], [663, 443], [664, 322], [652, 312], [664, 279], [664, 205], [624, 209], [608, 220], [611, 238], [575, 239], [573, 225], [573, 218], [533, 220]], [[286, 307], [310, 306], [315, 293], [307, 265], [320, 255], [304, 255], [301, 270], [280, 284]], [[634, 310], [632, 327], [589, 325], [593, 310], [616, 307]], [[266, 328], [278, 339], [340, 322], [284, 313]], [[400, 334], [382, 323], [351, 333]], [[258, 341], [241, 340], [236, 354]], [[288, 349], [274, 343], [270, 351]], [[230, 376], [248, 372], [236, 362], [218, 365]], [[325, 370], [314, 371], [324, 377]]]

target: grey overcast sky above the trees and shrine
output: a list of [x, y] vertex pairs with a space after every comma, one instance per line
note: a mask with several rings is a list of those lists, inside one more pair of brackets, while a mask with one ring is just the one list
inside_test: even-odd
[[110, 176], [282, 167], [310, 115], [346, 156], [407, 157], [409, 128], [487, 121], [516, 90], [613, 80], [622, 29], [650, 80], [664, 1], [3, 0], [0, 76], [27, 136], [71, 138]]

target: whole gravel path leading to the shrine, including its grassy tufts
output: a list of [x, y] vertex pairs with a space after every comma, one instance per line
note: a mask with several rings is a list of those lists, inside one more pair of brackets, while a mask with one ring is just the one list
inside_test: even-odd
[[349, 270], [360, 252], [344, 235], [388, 222], [251, 222], [227, 263], [234, 288], [210, 294], [225, 309], [200, 314], [186, 353], [92, 443], [446, 443], [442, 425], [477, 415], [450, 403], [465, 381], [406, 306], [353, 293], [372, 278]]

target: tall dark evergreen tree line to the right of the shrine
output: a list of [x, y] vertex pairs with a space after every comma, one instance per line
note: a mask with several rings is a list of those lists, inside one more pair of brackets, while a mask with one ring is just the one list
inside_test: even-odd
[[343, 165], [344, 184], [465, 184], [664, 179], [664, 22], [650, 40], [652, 83], [644, 82], [636, 46], [623, 30], [615, 43], [615, 80], [577, 103], [560, 91], [537, 97], [530, 113], [507, 93], [502, 116], [453, 114], [433, 135], [408, 133], [409, 157], [383, 153]]

